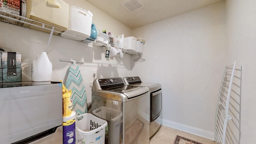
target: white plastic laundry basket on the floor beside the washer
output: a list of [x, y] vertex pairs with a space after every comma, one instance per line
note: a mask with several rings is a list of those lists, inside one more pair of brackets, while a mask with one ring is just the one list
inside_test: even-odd
[[76, 144], [105, 144], [106, 120], [90, 113], [81, 114], [76, 119]]

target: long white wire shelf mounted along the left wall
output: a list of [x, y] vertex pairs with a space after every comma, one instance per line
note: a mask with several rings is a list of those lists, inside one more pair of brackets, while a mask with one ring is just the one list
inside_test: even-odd
[[[82, 36], [77, 33], [72, 33], [72, 32], [64, 33], [66, 30], [63, 30], [61, 28], [56, 28], [54, 26], [44, 24], [42, 22], [31, 20], [31, 19], [25, 18], [23, 16], [18, 16], [16, 14], [12, 14], [12, 13], [6, 12], [4, 10], [0, 10], [0, 22], [11, 24], [14, 26], [19, 26], [22, 28], [30, 29], [30, 30], [36, 30], [38, 32], [44, 32], [44, 33], [48, 33], [48, 34], [51, 34], [51, 32], [52, 32], [53, 35], [60, 36], [60, 37], [62, 37], [63, 35], [68, 35], [67, 36], [68, 39], [71, 39], [71, 40], [75, 39], [80, 42], [84, 41], [85, 43], [93, 43], [93, 45], [96, 45], [96, 46], [104, 46], [104, 47], [107, 46], [107, 44], [102, 41], [94, 40], [91, 38], [87, 38], [86, 40], [84, 40], [84, 39], [80, 38]], [[64, 37], [62, 37], [62, 38], [64, 38]], [[131, 50], [126, 50], [124, 48], [120, 48], [117, 46], [113, 46], [113, 47], [121, 49], [123, 53], [139, 55], [139, 53], [133, 52]]]

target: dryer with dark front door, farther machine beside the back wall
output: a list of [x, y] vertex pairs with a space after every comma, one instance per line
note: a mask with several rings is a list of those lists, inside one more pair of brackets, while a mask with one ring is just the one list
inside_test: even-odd
[[162, 124], [162, 86], [159, 83], [141, 82], [140, 77], [124, 77], [124, 83], [130, 86], [145, 86], [150, 90], [150, 137]]

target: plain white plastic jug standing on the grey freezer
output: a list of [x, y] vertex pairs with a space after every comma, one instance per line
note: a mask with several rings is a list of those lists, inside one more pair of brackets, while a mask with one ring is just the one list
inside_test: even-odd
[[37, 60], [32, 61], [31, 80], [33, 82], [47, 82], [52, 79], [52, 62], [46, 52], [41, 52]]

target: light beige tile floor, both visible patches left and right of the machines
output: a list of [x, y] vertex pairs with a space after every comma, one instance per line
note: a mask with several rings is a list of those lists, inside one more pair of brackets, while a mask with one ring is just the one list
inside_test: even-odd
[[[149, 144], [173, 144], [177, 135], [189, 138], [202, 144], [215, 144], [215, 142], [212, 140], [169, 128], [167, 126], [160, 126], [156, 134], [150, 138]], [[36, 140], [30, 144], [62, 144], [62, 127], [57, 128], [54, 134]]]

